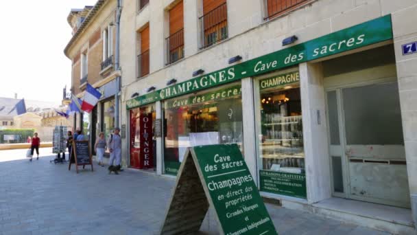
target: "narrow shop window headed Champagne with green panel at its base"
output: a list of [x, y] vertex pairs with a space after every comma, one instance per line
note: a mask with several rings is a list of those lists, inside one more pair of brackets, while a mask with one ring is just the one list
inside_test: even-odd
[[257, 107], [261, 191], [306, 198], [298, 71], [259, 80]]

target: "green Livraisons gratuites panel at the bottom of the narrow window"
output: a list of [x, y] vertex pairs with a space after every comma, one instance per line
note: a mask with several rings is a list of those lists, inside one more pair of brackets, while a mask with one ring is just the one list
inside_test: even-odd
[[261, 191], [307, 199], [305, 174], [259, 170]]

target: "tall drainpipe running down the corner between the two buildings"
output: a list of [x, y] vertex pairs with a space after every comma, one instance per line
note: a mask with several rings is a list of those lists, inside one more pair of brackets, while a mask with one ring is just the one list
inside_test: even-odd
[[[116, 52], [115, 52], [115, 70], [120, 69], [119, 65], [119, 55], [120, 55], [120, 16], [121, 16], [121, 0], [117, 0], [117, 9], [116, 9]], [[119, 96], [120, 96], [120, 82], [121, 76], [116, 78], [116, 87], [117, 93], [115, 96], [115, 126], [119, 127]]]

